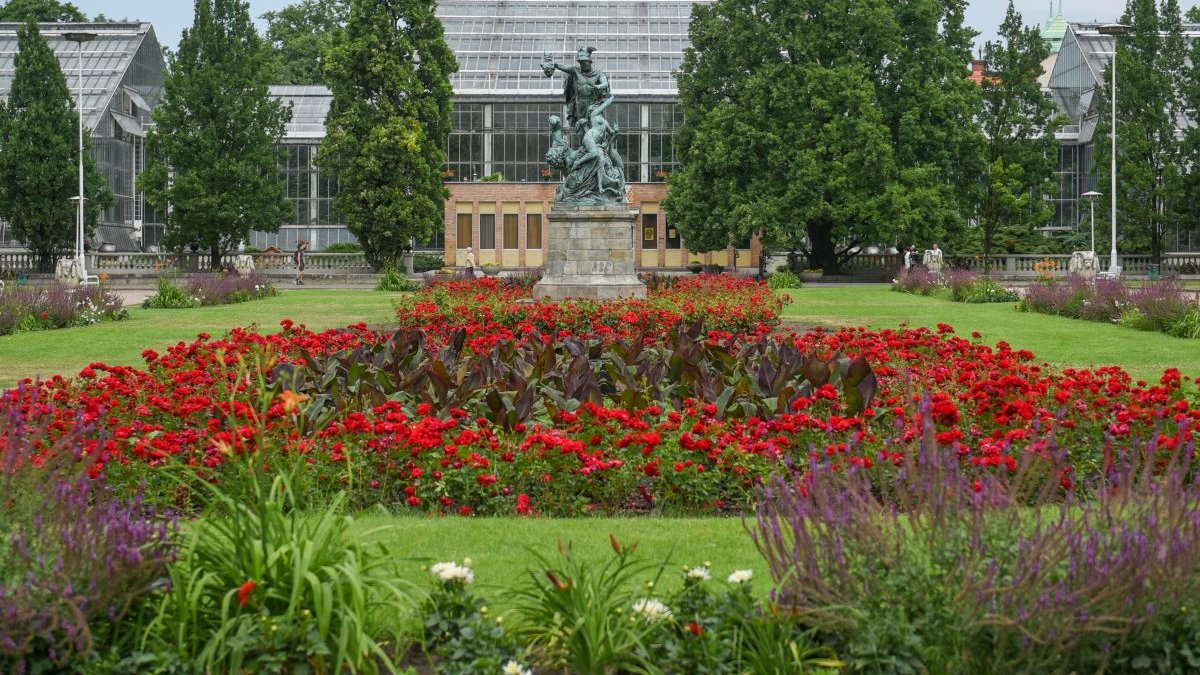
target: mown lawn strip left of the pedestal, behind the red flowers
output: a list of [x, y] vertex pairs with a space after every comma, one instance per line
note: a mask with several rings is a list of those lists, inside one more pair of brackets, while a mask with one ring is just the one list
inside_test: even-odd
[[144, 350], [163, 351], [190, 342], [198, 333], [224, 335], [230, 328], [257, 324], [276, 331], [290, 318], [314, 330], [350, 323], [386, 323], [395, 318], [400, 293], [376, 291], [283, 289], [274, 298], [190, 310], [130, 309], [127, 321], [82, 328], [0, 336], [0, 388], [24, 377], [74, 375], [85, 365], [140, 365]]

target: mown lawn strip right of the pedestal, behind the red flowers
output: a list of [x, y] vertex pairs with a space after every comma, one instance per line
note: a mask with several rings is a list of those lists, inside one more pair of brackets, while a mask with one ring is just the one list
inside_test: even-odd
[[1157, 381], [1168, 368], [1200, 376], [1200, 340], [1019, 312], [1012, 303], [971, 305], [896, 293], [887, 285], [811, 285], [787, 293], [793, 303], [785, 307], [785, 319], [802, 325], [895, 328], [907, 323], [934, 328], [948, 323], [964, 338], [978, 330], [984, 342], [1007, 341], [1057, 368], [1120, 365], [1147, 381]]

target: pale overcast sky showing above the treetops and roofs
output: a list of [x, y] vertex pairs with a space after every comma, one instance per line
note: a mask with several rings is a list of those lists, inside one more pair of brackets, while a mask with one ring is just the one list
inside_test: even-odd
[[[899, 0], [904, 1], [904, 0]], [[1043, 24], [1054, 2], [1057, 13], [1060, 0], [1016, 0], [1016, 10], [1021, 12], [1026, 24]], [[154, 24], [158, 41], [169, 47], [179, 42], [179, 34], [192, 23], [192, 6], [188, 0], [73, 0], [89, 17], [103, 13], [109, 18], [127, 18], [148, 20]], [[967, 23], [978, 30], [979, 46], [983, 41], [994, 38], [1000, 22], [1004, 19], [1007, 0], [970, 0]], [[1063, 13], [1069, 20], [1114, 20], [1124, 11], [1124, 0], [1062, 0]], [[263, 12], [278, 10], [292, 4], [292, 0], [250, 0], [250, 10], [254, 17]], [[1200, 4], [1200, 0], [1182, 0], [1180, 5], [1188, 7]]]

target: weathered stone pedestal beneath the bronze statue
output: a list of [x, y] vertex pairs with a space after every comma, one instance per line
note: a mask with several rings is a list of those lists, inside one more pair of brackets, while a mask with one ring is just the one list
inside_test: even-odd
[[628, 204], [550, 208], [546, 275], [536, 299], [644, 298], [634, 270], [634, 214]]

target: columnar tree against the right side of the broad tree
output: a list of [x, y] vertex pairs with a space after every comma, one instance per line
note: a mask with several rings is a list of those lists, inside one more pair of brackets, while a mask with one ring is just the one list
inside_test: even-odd
[[893, 2], [899, 40], [880, 73], [880, 100], [898, 167], [892, 227], [899, 243], [961, 232], [978, 201], [984, 136], [979, 89], [966, 76], [977, 32], [966, 0]]

